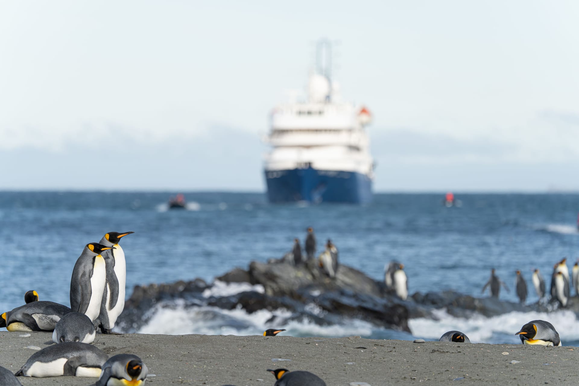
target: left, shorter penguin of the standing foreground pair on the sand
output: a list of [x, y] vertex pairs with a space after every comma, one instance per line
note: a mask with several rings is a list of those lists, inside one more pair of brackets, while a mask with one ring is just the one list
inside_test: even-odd
[[107, 245], [90, 242], [76, 260], [71, 277], [71, 310], [85, 314], [94, 323], [101, 311], [102, 293], [107, 281], [105, 259], [100, 254]]

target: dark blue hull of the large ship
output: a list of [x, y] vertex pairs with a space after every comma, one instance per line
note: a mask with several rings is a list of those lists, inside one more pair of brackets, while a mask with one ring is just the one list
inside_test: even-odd
[[372, 179], [349, 171], [313, 168], [265, 171], [270, 203], [351, 203], [372, 200]]

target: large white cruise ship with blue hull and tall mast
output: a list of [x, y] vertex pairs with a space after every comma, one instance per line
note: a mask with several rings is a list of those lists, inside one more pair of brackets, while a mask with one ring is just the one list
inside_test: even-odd
[[372, 200], [373, 160], [364, 127], [371, 113], [342, 102], [331, 78], [331, 45], [318, 43], [307, 101], [281, 104], [271, 115], [265, 159], [270, 203]]

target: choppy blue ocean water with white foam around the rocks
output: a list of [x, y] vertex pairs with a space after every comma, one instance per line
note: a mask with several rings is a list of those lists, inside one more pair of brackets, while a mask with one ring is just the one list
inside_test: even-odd
[[[185, 193], [184, 211], [167, 210], [171, 194], [0, 192], [0, 310], [23, 304], [28, 289], [38, 291], [41, 300], [68, 305], [72, 267], [84, 245], [112, 230], [135, 232], [122, 242], [127, 297], [137, 284], [211, 281], [251, 260], [280, 258], [294, 237], [305, 238], [308, 226], [314, 227], [318, 244], [334, 241], [340, 262], [378, 280], [390, 260], [404, 263], [411, 293], [453, 289], [481, 296], [494, 267], [511, 288], [501, 292], [501, 299], [516, 300], [515, 270], [520, 269], [529, 286], [527, 302], [536, 302], [533, 269], [548, 281], [556, 261], [567, 256], [571, 268], [579, 258], [579, 194], [456, 194], [463, 205], [446, 208], [442, 194], [376, 194], [372, 204], [360, 207], [270, 205], [261, 193], [196, 192]], [[214, 317], [204, 318], [208, 310], [161, 311], [141, 332], [159, 332], [158, 326], [171, 320], [171, 328], [162, 332], [252, 334], [263, 331], [272, 316], [269, 311], [210, 310], [222, 315], [215, 323]], [[516, 343], [512, 333], [538, 317], [565, 326], [563, 343], [579, 343], [579, 322], [569, 311], [468, 321], [441, 311], [438, 321], [413, 319], [410, 326], [413, 336], [426, 339], [461, 329], [472, 341]], [[364, 321], [325, 327], [305, 321], [283, 328], [301, 336], [412, 338]]]

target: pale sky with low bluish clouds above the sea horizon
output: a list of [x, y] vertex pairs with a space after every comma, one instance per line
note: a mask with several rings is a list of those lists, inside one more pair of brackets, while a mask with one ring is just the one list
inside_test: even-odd
[[[579, 190], [579, 2], [0, 0], [0, 190], [265, 190], [335, 42], [377, 192]], [[105, 182], [106, 181], [106, 182]]]

